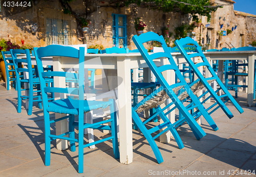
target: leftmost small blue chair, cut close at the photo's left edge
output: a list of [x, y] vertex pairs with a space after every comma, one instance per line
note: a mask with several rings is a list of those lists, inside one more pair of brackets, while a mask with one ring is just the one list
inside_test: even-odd
[[4, 58], [4, 62], [5, 62], [6, 89], [7, 90], [10, 89], [10, 82], [12, 82], [12, 87], [13, 88], [15, 87], [15, 89], [17, 90], [13, 60], [12, 60], [12, 58], [5, 56], [5, 55], [11, 55], [11, 52], [10, 51], [2, 52], [2, 55], [3, 55], [3, 58]]

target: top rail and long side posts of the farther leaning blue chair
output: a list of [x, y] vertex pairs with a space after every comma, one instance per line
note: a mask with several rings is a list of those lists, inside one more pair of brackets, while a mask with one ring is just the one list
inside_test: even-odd
[[203, 83], [203, 85], [205, 86], [205, 88], [207, 89], [207, 91], [210, 93], [210, 96], [212, 96], [216, 102], [218, 103], [218, 106], [225, 112], [225, 114], [229, 117], [232, 118], [233, 114], [231, 113], [231, 111], [226, 107], [226, 105], [222, 102], [222, 100], [220, 99], [220, 97], [217, 95], [217, 93], [211, 88], [211, 86], [208, 84], [207, 80], [208, 78], [204, 78], [203, 74], [199, 71], [199, 69], [196, 67], [196, 65], [194, 64], [193, 60], [191, 60], [190, 55], [188, 55], [184, 48], [182, 47], [184, 44], [194, 44], [197, 47], [197, 53], [202, 57], [202, 62], [207, 64], [206, 69], [209, 70], [209, 72], [211, 73], [212, 77], [214, 79], [216, 79], [217, 83], [219, 84], [219, 86], [221, 87], [221, 89], [224, 91], [225, 94], [227, 94], [227, 97], [230, 99], [230, 101], [233, 103], [233, 105], [237, 108], [237, 110], [240, 113], [243, 113], [243, 109], [241, 108], [241, 106], [236, 102], [236, 100], [231, 96], [231, 94], [228, 92], [227, 88], [224, 86], [224, 84], [221, 82], [221, 80], [219, 79], [219, 77], [217, 76], [217, 74], [215, 73], [214, 69], [212, 69], [212, 67], [210, 67], [209, 62], [207, 61], [206, 57], [204, 56], [201, 47], [199, 46], [199, 44], [191, 39], [190, 37], [186, 37], [180, 40], [176, 40], [175, 44], [177, 45], [177, 47], [180, 49], [181, 54], [184, 56], [185, 60], [187, 61], [187, 63], [189, 64], [189, 66], [194, 70], [195, 74], [197, 74], [199, 80]]

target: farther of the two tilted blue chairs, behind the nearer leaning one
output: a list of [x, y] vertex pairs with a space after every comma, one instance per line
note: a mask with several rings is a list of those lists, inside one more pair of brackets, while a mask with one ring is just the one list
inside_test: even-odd
[[[210, 96], [205, 98], [203, 100], [202, 104], [205, 103], [206, 100], [208, 100], [210, 97], [213, 97], [216, 100], [215, 104], [211, 105], [209, 108], [206, 109], [207, 111], [210, 111], [212, 108], [217, 106], [216, 108], [211, 110], [209, 112], [209, 114], [212, 114], [218, 108], [221, 108], [229, 118], [232, 118], [233, 114], [231, 113], [231, 111], [225, 105], [227, 100], [230, 100], [232, 102], [232, 104], [237, 108], [237, 110], [240, 113], [243, 113], [244, 111], [241, 108], [241, 106], [237, 103], [237, 101], [233, 98], [233, 96], [228, 92], [227, 88], [223, 85], [223, 83], [221, 82], [221, 80], [219, 79], [217, 74], [215, 73], [214, 69], [212, 69], [212, 67], [210, 66], [210, 64], [207, 61], [206, 57], [204, 56], [204, 54], [203, 54], [199, 44], [195, 40], [191, 39], [190, 37], [186, 37], [186, 38], [183, 38], [183, 39], [180, 39], [180, 40], [176, 40], [175, 44], [179, 48], [181, 54], [183, 55], [183, 57], [185, 58], [185, 60], [189, 64], [189, 66], [194, 70], [195, 74], [197, 74], [198, 79], [195, 82], [199, 82], [200, 81], [204, 85], [204, 87], [206, 89], [205, 92], [201, 96], [198, 97], [198, 99], [202, 98], [204, 95], [206, 95], [206, 93], [210, 93]], [[184, 50], [184, 48], [183, 48], [183, 45], [185, 45], [185, 44], [194, 44], [195, 47], [197, 48], [197, 52], [194, 53], [194, 54], [188, 55], [186, 53], [186, 51]], [[193, 60], [191, 60], [191, 58], [193, 58], [193, 57], [201, 57], [202, 62], [194, 64]], [[211, 73], [212, 77], [204, 78], [203, 74], [198, 69], [198, 67], [200, 67], [200, 66], [205, 66], [205, 69], [209, 70], [209, 72]], [[219, 84], [219, 86], [220, 86], [220, 88], [217, 89], [216, 91], [214, 91], [214, 89], [212, 89], [210, 84], [209, 84], [212, 81], [216, 81]], [[190, 87], [191, 87], [191, 84], [190, 84]], [[221, 96], [218, 96], [217, 92], [219, 90], [221, 90], [221, 89], [222, 89], [222, 91], [224, 91], [225, 94], [221, 95]], [[225, 96], [227, 96], [228, 99], [225, 100], [225, 102], [223, 102], [221, 100], [221, 98], [225, 97]]]

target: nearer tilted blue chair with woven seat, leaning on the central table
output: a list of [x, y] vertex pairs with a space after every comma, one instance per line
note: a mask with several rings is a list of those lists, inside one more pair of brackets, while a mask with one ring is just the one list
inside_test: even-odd
[[[199, 126], [199, 124], [196, 122], [196, 118], [198, 118], [197, 113], [193, 113], [191, 115], [189, 113], [189, 110], [198, 108], [199, 112], [204, 115], [205, 119], [208, 121], [212, 129], [218, 130], [217, 125], [215, 124], [214, 120], [208, 115], [208, 113], [205, 111], [205, 108], [199, 100], [197, 99], [196, 95], [193, 94], [193, 92], [190, 90], [189, 86], [187, 85], [185, 79], [183, 78], [179, 68], [177, 67], [177, 64], [175, 63], [172, 55], [170, 55], [169, 49], [164, 41], [163, 36], [159, 36], [156, 33], [153, 32], [147, 32], [144, 34], [141, 34], [140, 36], [133, 36], [133, 41], [137, 48], [139, 49], [141, 55], [143, 56], [144, 60], [146, 61], [147, 65], [150, 67], [150, 69], [155, 74], [158, 82], [161, 84], [161, 86], [155, 90], [152, 94], [145, 97], [140, 103], [138, 103], [135, 107], [132, 108], [132, 116], [136, 124], [138, 125], [139, 129], [147, 139], [148, 143], [151, 145], [154, 154], [156, 156], [156, 159], [158, 163], [163, 162], [161, 153], [155, 143], [155, 139], [159, 137], [160, 135], [166, 133], [167, 131], [172, 132], [174, 135], [174, 138], [179, 146], [179, 148], [183, 148], [184, 145], [176, 131], [176, 128], [181, 125], [183, 122], [187, 122], [190, 129], [193, 131], [195, 137], [199, 140], [202, 137], [204, 137], [206, 134], [202, 130], [202, 128]], [[161, 43], [164, 52], [154, 53], [154, 54], [148, 54], [147, 52], [144, 52], [144, 46], [143, 43], [150, 42], [150, 41], [158, 41]], [[154, 59], [157, 58], [168, 58], [169, 64], [157, 67], [154, 63]], [[180, 80], [179, 83], [169, 85], [167, 81], [164, 79], [162, 72], [165, 70], [172, 69], [175, 71], [175, 73], [178, 76], [178, 79]], [[183, 92], [180, 92], [178, 95], [177, 92], [184, 88]], [[190, 106], [184, 106], [183, 100], [185, 100], [187, 97], [191, 98], [191, 104]], [[170, 98], [172, 102], [165, 106], [164, 108], [161, 108], [160, 105], [165, 102], [166, 99]], [[174, 105], [174, 108], [170, 109], [166, 113], [163, 111], [166, 109], [169, 109], [170, 106]], [[143, 111], [144, 109], [150, 109], [155, 108], [156, 112], [154, 115], [152, 115], [150, 118], [142, 122], [140, 119], [138, 113]], [[166, 117], [170, 112], [175, 110], [176, 108], [179, 109], [179, 111], [182, 113], [184, 117], [176, 121], [175, 123], [171, 123], [169, 119]], [[163, 120], [163, 123], [156, 127], [151, 127], [150, 129], [147, 129], [145, 124], [149, 121], [151, 121], [153, 118], [160, 116]], [[158, 133], [160, 129], [164, 129], [162, 132]], [[153, 133], [157, 133], [156, 136], [152, 136]]]

